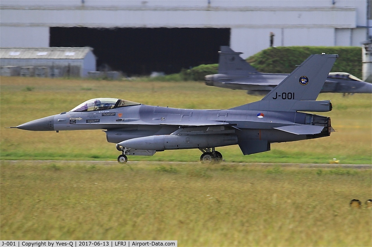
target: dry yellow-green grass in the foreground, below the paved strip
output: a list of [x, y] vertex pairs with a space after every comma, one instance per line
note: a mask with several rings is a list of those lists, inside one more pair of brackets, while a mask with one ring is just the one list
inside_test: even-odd
[[372, 244], [370, 169], [186, 164], [2, 161], [1, 240]]

